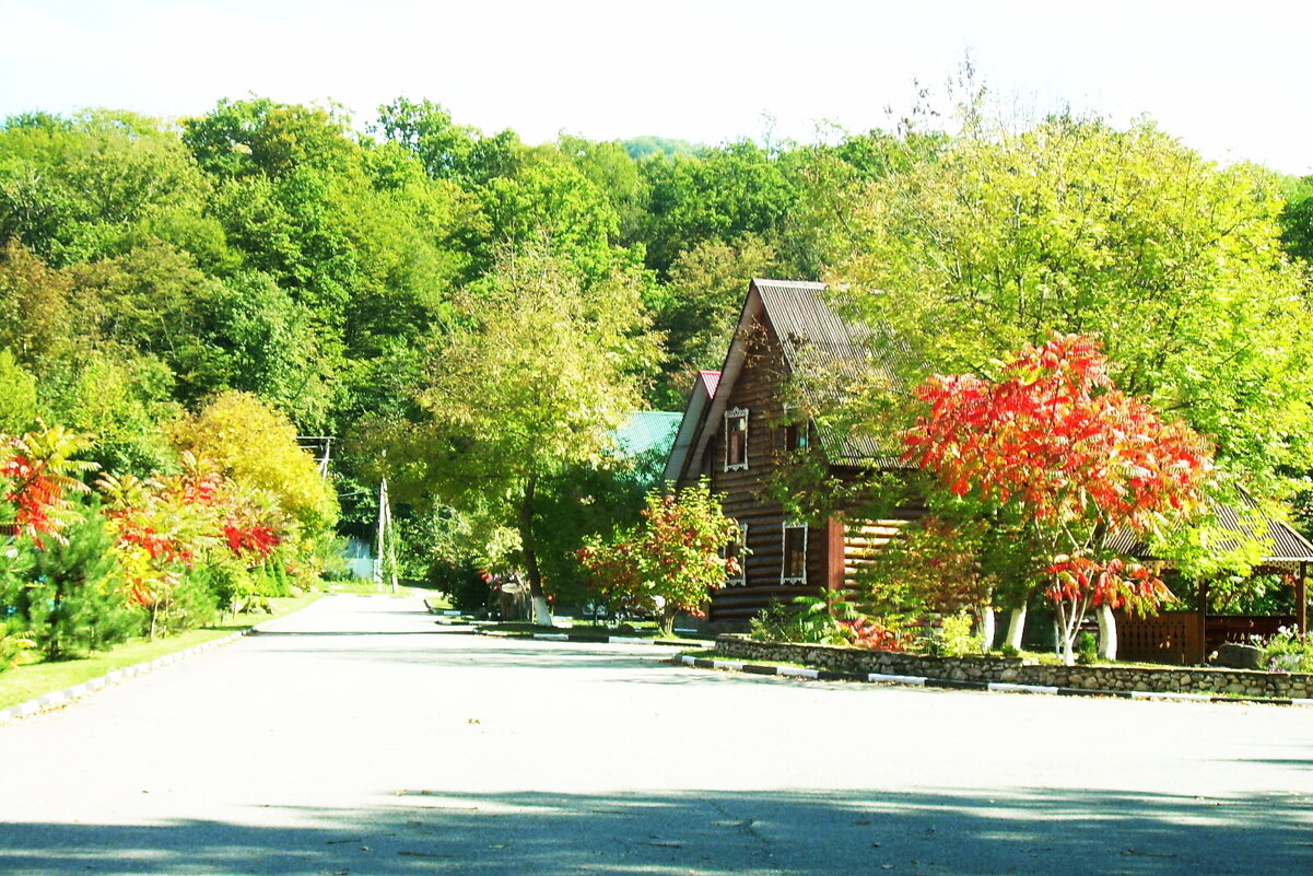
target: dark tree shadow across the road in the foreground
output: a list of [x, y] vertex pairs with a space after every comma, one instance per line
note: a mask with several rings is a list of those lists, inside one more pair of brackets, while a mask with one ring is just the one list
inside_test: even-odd
[[1313, 872], [1302, 796], [1106, 791], [458, 795], [394, 789], [357, 810], [249, 822], [0, 825], [0, 872], [951, 876]]

